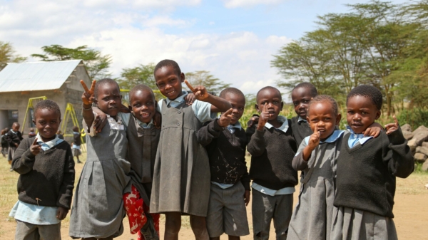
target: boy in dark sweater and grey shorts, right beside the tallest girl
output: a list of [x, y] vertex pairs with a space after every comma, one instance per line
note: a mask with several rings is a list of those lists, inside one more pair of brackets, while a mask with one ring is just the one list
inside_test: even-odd
[[210, 239], [229, 239], [250, 234], [245, 205], [250, 202], [250, 176], [245, 162], [247, 137], [238, 120], [245, 108], [245, 96], [237, 88], [225, 88], [220, 98], [232, 108], [220, 118], [205, 122], [197, 133], [210, 160], [211, 191], [207, 229]]

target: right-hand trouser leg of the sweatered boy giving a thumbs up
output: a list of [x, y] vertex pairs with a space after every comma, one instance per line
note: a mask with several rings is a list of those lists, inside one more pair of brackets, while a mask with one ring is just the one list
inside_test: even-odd
[[273, 212], [273, 226], [275, 227], [276, 239], [287, 239], [288, 224], [292, 214], [292, 194], [277, 195], [276, 206]]

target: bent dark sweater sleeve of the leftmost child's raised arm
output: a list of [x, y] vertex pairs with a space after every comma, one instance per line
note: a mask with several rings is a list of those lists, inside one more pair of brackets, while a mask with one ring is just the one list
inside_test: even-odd
[[19, 174], [26, 174], [33, 169], [34, 161], [36, 156], [30, 151], [29, 138], [21, 142], [18, 148], [16, 148], [14, 154], [14, 160], [12, 160], [12, 169]]

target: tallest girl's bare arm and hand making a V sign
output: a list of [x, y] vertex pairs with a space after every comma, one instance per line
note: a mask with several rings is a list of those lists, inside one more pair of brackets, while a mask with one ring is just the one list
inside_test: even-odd
[[196, 99], [203, 102], [211, 103], [211, 113], [225, 112], [229, 108], [232, 108], [232, 105], [230, 105], [230, 103], [227, 100], [223, 98], [219, 98], [215, 95], [209, 94], [208, 91], [205, 89], [205, 87], [197, 86], [193, 88], [192, 85], [190, 85], [190, 83], [188, 83], [187, 80], [184, 80], [184, 82], [186, 85], [188, 85], [188, 88], [193, 93], [195, 93]]

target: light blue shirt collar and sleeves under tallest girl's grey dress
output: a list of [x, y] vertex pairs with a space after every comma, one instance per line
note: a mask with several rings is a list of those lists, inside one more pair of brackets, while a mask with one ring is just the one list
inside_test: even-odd
[[[185, 96], [188, 95], [187, 92], [183, 92], [183, 95], [175, 98], [174, 100], [170, 100], [169, 98], [165, 98], [166, 105], [170, 105], [173, 108], [177, 108], [181, 103], [184, 102]], [[162, 100], [158, 102], [159, 110], [162, 113]], [[195, 113], [196, 118], [200, 120], [200, 122], [208, 122], [213, 119], [211, 115], [211, 103], [206, 103], [200, 100], [195, 100], [192, 104], [193, 113]], [[215, 118], [215, 117], [214, 117]]]

